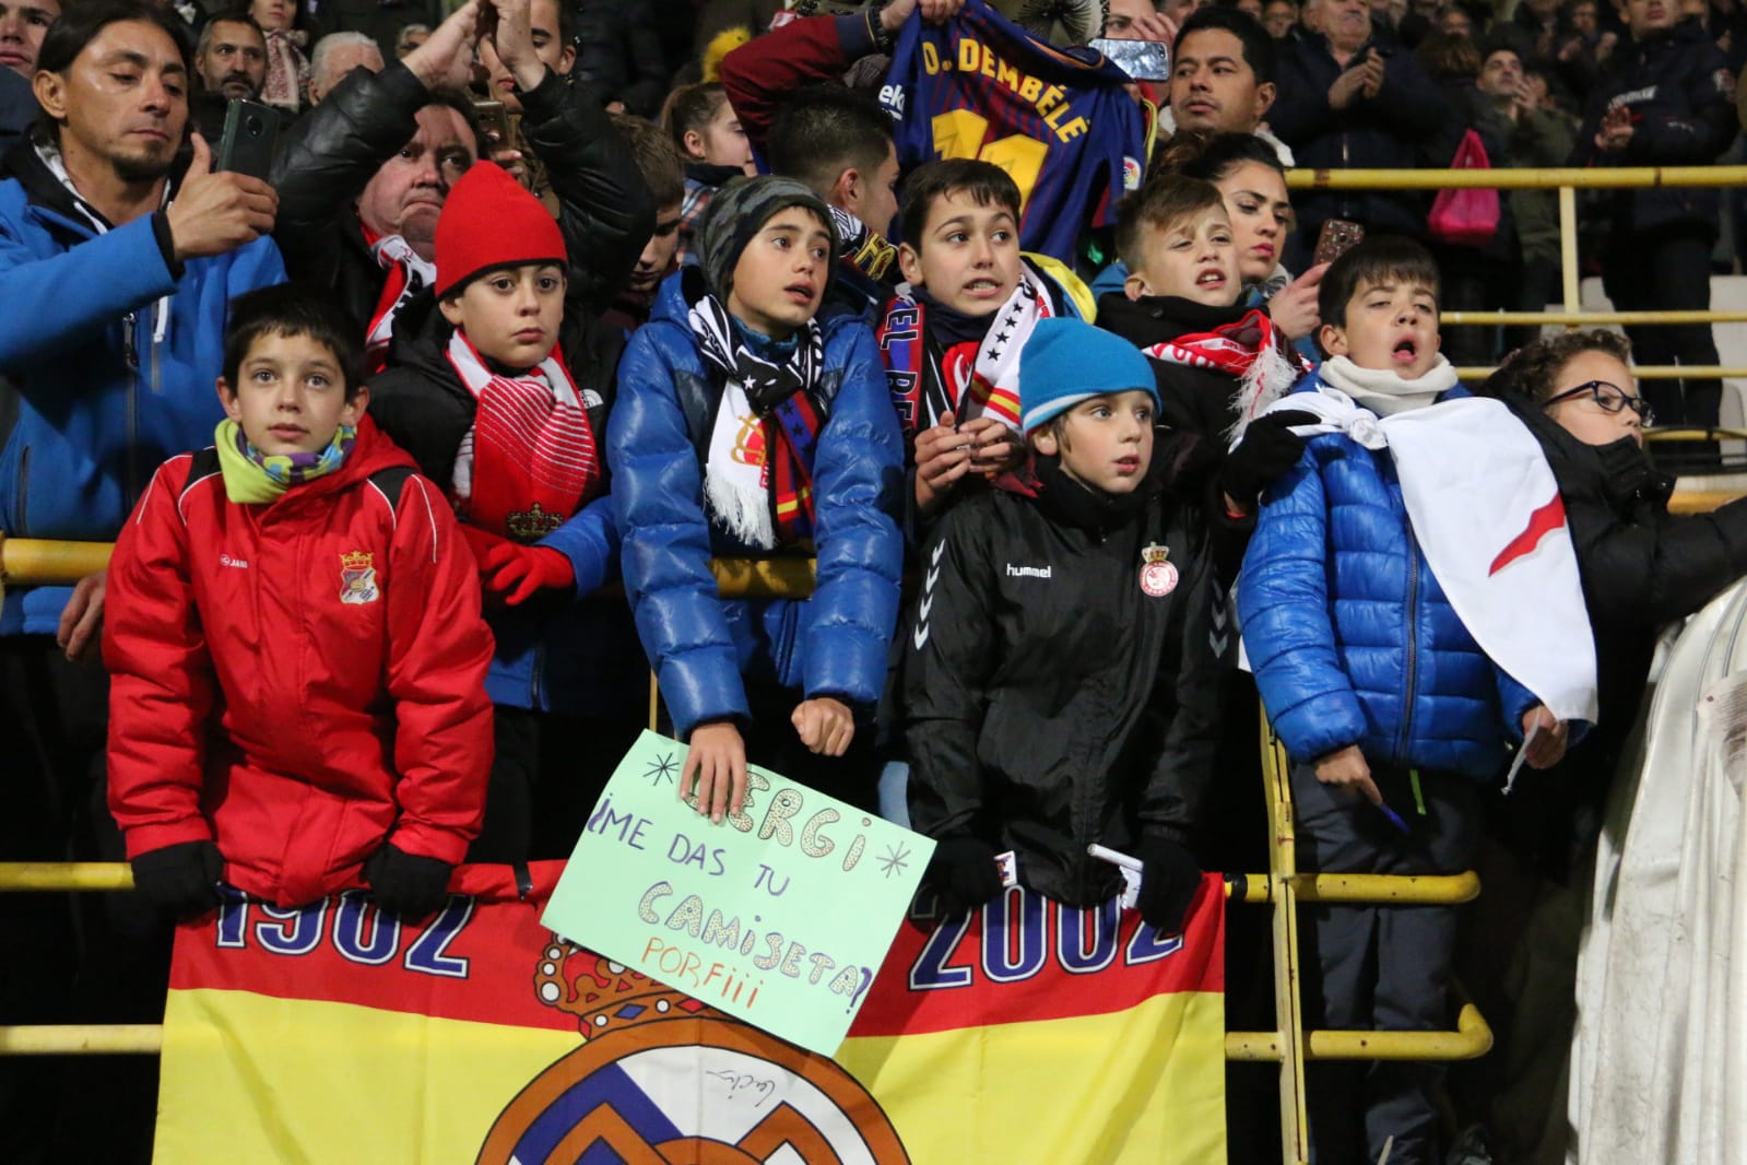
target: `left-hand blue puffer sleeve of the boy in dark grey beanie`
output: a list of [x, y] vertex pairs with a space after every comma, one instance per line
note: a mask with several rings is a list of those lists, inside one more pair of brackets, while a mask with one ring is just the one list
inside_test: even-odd
[[709, 569], [704, 484], [674, 395], [676, 370], [657, 346], [662, 332], [671, 344], [692, 344], [667, 323], [643, 325], [631, 337], [606, 423], [606, 459], [625, 596], [674, 732], [685, 739], [699, 723], [749, 720], [751, 711]]

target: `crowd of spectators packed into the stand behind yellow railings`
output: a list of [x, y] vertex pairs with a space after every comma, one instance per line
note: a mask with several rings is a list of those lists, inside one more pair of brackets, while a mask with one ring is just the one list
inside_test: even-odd
[[[716, 821], [770, 765], [935, 835], [952, 908], [1001, 891], [998, 849], [1094, 905], [1101, 840], [1169, 931], [1202, 868], [1265, 861], [1254, 617], [1322, 868], [1460, 868], [1485, 831], [1530, 886], [1571, 877], [1656, 625], [1747, 575], [1747, 503], [1670, 517], [1642, 440], [1716, 424], [1721, 383], [1630, 369], [1716, 365], [1712, 330], [1440, 334], [1558, 295], [1555, 192], [1457, 243], [1429, 194], [1286, 175], [1443, 168], [1469, 138], [1494, 168], [1714, 162], [1747, 12], [1055, 5], [1046, 30], [1170, 66], [1074, 58], [1052, 84], [1108, 101], [1078, 136], [1122, 164], [1027, 138], [1027, 171], [1015, 140], [1076, 134], [1050, 98], [1013, 121], [992, 61], [968, 107], [893, 93], [966, 3], [0, 0], [0, 533], [119, 541], [0, 606], [0, 859], [131, 859], [142, 891], [3, 903], [37, 955], [0, 969], [0, 1022], [150, 1022], [166, 924], [220, 880], [421, 915], [458, 861], [564, 856], [650, 671]], [[220, 164], [238, 101], [276, 121], [260, 173]], [[964, 114], [1012, 136], [940, 129]], [[1022, 250], [1045, 183], [1073, 243]], [[1728, 213], [1600, 194], [1585, 262], [1621, 309], [1707, 307]], [[1366, 243], [1322, 253], [1340, 222]], [[1480, 648], [1433, 519], [1354, 435], [1469, 396], [1457, 365], [1501, 369], [1473, 416], [1567, 498], [1599, 713]], [[1363, 519], [1321, 531], [1324, 503]], [[811, 599], [718, 599], [711, 557], [781, 555], [816, 561]], [[1506, 807], [1518, 744], [1548, 793]], [[1399, 838], [1385, 796], [1419, 802]], [[1317, 913], [1310, 947], [1345, 936], [1312, 952], [1319, 1022], [1440, 1025], [1455, 931], [1415, 917]], [[1331, 948], [1366, 941], [1417, 947], [1398, 1013], [1349, 1006], [1370, 971]], [[1261, 1025], [1237, 917], [1228, 950]], [[152, 1067], [101, 1071], [0, 1060], [0, 1155], [148, 1160]], [[1324, 1160], [1441, 1160], [1436, 1074], [1377, 1085], [1321, 1074]], [[1232, 1095], [1233, 1160], [1267, 1160], [1272, 1102]]]

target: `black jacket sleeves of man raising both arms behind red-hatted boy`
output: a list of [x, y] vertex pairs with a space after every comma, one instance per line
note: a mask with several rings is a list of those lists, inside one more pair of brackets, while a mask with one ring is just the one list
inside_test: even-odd
[[[655, 231], [655, 208], [631, 147], [599, 98], [550, 70], [521, 94], [522, 133], [547, 166], [570, 248], [570, 292], [606, 311]], [[293, 279], [335, 288], [341, 306], [370, 318], [384, 274], [370, 257], [356, 203], [377, 168], [418, 133], [430, 103], [425, 84], [395, 63], [356, 68], [280, 143], [273, 185], [280, 215], [273, 238]]]

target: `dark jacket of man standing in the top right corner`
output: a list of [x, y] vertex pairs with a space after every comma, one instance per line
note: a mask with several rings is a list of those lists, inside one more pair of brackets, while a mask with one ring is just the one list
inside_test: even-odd
[[[1632, 110], [1632, 141], [1600, 152], [1595, 134], [1614, 107]], [[1735, 73], [1703, 26], [1688, 21], [1642, 42], [1614, 49], [1590, 91], [1578, 129], [1574, 166], [1709, 166], [1738, 129]], [[1647, 187], [1609, 197], [1612, 241], [1632, 246], [1633, 232], [1691, 229], [1717, 234], [1717, 190]]]

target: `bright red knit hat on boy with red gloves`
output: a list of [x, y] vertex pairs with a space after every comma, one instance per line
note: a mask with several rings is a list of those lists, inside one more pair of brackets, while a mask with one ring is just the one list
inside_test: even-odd
[[550, 211], [496, 162], [473, 162], [437, 218], [437, 297], [491, 267], [543, 262], [568, 265]]

